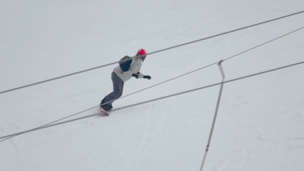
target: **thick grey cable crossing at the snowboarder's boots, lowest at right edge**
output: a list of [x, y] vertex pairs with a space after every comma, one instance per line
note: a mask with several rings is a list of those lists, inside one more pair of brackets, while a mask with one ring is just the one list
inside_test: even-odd
[[[233, 82], [233, 81], [236, 81], [236, 80], [240, 80], [240, 79], [248, 78], [248, 77], [251, 77], [251, 76], [256, 76], [256, 75], [264, 74], [264, 73], [267, 73], [267, 72], [272, 72], [272, 71], [275, 71], [275, 70], [279, 70], [279, 69], [283, 69], [283, 68], [287, 68], [287, 67], [303, 64], [303, 63], [304, 63], [304, 61], [301, 61], [301, 62], [297, 62], [297, 63], [293, 63], [293, 64], [281, 66], [281, 67], [276, 67], [276, 68], [273, 68], [273, 69], [269, 69], [269, 70], [253, 73], [253, 74], [250, 74], [250, 75], [241, 76], [241, 77], [238, 77], [238, 78], [234, 78], [234, 79], [230, 79], [230, 80], [226, 80], [226, 81], [221, 81], [221, 82], [218, 82], [218, 83], [213, 83], [213, 84], [210, 84], [210, 85], [206, 85], [206, 86], [202, 86], [202, 87], [198, 87], [198, 88], [194, 88], [194, 89], [190, 89], [190, 90], [186, 90], [186, 91], [182, 91], [182, 92], [178, 92], [178, 93], [174, 93], [174, 94], [170, 94], [170, 95], [166, 95], [166, 96], [150, 99], [150, 100], [147, 100], [147, 101], [138, 102], [138, 103], [135, 103], [135, 104], [126, 105], [126, 106], [123, 106], [123, 107], [118, 107], [118, 108], [113, 109], [112, 111], [121, 110], [123, 108], [128, 108], [128, 107], [132, 107], [132, 106], [148, 103], [148, 102], [151, 102], [151, 101], [156, 101], [156, 100], [160, 100], [160, 99], [164, 99], [164, 98], [168, 98], [168, 97], [172, 97], [172, 96], [176, 96], [176, 95], [180, 95], [180, 94], [196, 91], [196, 90], [199, 90], [199, 89], [204, 89], [204, 88], [212, 87], [212, 86], [215, 86], [215, 85], [219, 85], [221, 83]], [[98, 114], [100, 114], [100, 112], [95, 113], [95, 114], [90, 114], [90, 115], [87, 115], [87, 116], [83, 116], [83, 117], [79, 117], [79, 118], [75, 118], [75, 119], [71, 119], [71, 120], [66, 120], [66, 121], [55, 123], [55, 124], [52, 124], [52, 125], [50, 125], [50, 124], [44, 124], [44, 125], [47, 125], [45, 127], [50, 127], [50, 126], [54, 126], [54, 125], [68, 123], [68, 122], [71, 122], [71, 121], [74, 121], [74, 120], [79, 120], [79, 119], [82, 119], [82, 118], [91, 117], [91, 116], [98, 115]], [[15, 137], [17, 135], [23, 134], [23, 133], [35, 131], [35, 130], [42, 129], [42, 128], [45, 128], [45, 127], [39, 126], [39, 127], [33, 128], [33, 129], [28, 129], [28, 130], [22, 131], [22, 132], [17, 132], [17, 133], [13, 133], [13, 134], [10, 134], [10, 135], [1, 136], [0, 137], [0, 139], [1, 139], [0, 142], [4, 141], [4, 140], [7, 140], [7, 139], [10, 139], [12, 137]], [[4, 139], [2, 139], [2, 138], [4, 138]]]

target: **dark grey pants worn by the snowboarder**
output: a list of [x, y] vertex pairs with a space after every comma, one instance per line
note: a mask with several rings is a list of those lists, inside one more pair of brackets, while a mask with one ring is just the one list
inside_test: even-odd
[[[112, 72], [111, 74], [112, 82], [113, 82], [113, 91], [109, 94], [107, 94], [102, 100], [101, 103], [106, 103], [111, 100], [115, 100], [119, 98], [122, 95], [123, 91], [123, 81], [116, 75], [115, 72]], [[112, 103], [112, 102], [110, 102]], [[109, 104], [110, 104], [109, 103]]]

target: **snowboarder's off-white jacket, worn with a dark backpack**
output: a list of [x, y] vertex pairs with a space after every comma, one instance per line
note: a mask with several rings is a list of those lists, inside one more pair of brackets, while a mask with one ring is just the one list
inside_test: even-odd
[[[132, 57], [132, 62], [130, 64], [130, 68], [128, 71], [126, 72], [122, 72], [120, 66], [116, 66], [113, 69], [113, 72], [116, 73], [116, 75], [123, 81], [127, 81], [132, 77], [133, 73], [137, 73], [140, 71], [140, 67], [141, 67], [141, 63], [142, 61], [139, 60], [137, 57]], [[142, 78], [144, 75], [142, 73], [139, 72], [138, 74], [138, 78]]]

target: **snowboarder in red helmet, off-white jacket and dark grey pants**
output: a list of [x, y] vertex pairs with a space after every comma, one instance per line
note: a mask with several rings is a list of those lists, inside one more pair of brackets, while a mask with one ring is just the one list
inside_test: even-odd
[[[119, 98], [122, 95], [123, 84], [129, 80], [132, 76], [135, 78], [146, 78], [151, 79], [149, 75], [143, 75], [140, 73], [141, 63], [146, 57], [146, 51], [140, 48], [136, 55], [133, 57], [124, 56], [120, 59], [119, 65], [113, 69], [111, 73], [111, 79], [113, 82], [113, 91], [107, 94], [100, 102], [100, 110], [108, 111], [112, 109], [113, 100]], [[109, 102], [111, 101], [111, 102]], [[104, 104], [109, 102], [107, 104]]]

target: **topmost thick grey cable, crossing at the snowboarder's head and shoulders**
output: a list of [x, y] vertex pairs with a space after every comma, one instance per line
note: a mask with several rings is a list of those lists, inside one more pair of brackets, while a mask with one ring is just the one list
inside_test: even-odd
[[[275, 20], [278, 20], [278, 19], [282, 19], [282, 18], [289, 17], [289, 16], [296, 15], [296, 14], [300, 14], [300, 13], [303, 13], [303, 12], [304, 12], [304, 10], [299, 11], [299, 12], [295, 12], [295, 13], [291, 13], [291, 14], [288, 14], [288, 15], [280, 16], [280, 17], [277, 17], [277, 18], [269, 19], [269, 20], [266, 20], [266, 21], [263, 21], [263, 22], [258, 22], [258, 23], [252, 24], [252, 25], [241, 27], [241, 28], [233, 29], [233, 30], [230, 30], [230, 31], [222, 32], [222, 33], [219, 33], [219, 34], [211, 35], [211, 36], [208, 36], [208, 37], [200, 38], [200, 39], [197, 39], [197, 40], [189, 41], [189, 42], [186, 42], [186, 43], [182, 43], [182, 44], [174, 45], [174, 46], [171, 46], [171, 47], [163, 48], [163, 49], [160, 49], [160, 50], [156, 50], [156, 51], [147, 53], [146, 55], [153, 54], [153, 53], [158, 53], [158, 52], [161, 52], [161, 51], [169, 50], [171, 48], [176, 48], [176, 47], [184, 46], [184, 45], [187, 45], [187, 44], [195, 43], [195, 42], [198, 42], [198, 41], [206, 40], [206, 39], [209, 39], [209, 38], [213, 38], [213, 37], [216, 37], [216, 36], [224, 35], [224, 34], [227, 34], [227, 33], [239, 31], [239, 30], [242, 30], [242, 29], [245, 29], [245, 28], [257, 26], [257, 25], [260, 25], [260, 24], [264, 24], [264, 23], [267, 23], [267, 22], [275, 21]], [[89, 71], [89, 70], [101, 68], [101, 67], [104, 67], [104, 66], [112, 65], [112, 64], [115, 64], [117, 62], [118, 61], [115, 61], [115, 62], [111, 62], [111, 63], [108, 63], [108, 64], [104, 64], [104, 65], [92, 67], [92, 68], [89, 68], [89, 69], [77, 71], [77, 72], [74, 72], [74, 73], [69, 73], [69, 74], [66, 74], [66, 75], [62, 75], [62, 76], [46, 79], [46, 80], [43, 80], [43, 81], [39, 81], [39, 82], [35, 82], [35, 83], [31, 83], [31, 84], [27, 84], [27, 85], [15, 87], [15, 88], [3, 90], [3, 91], [0, 91], [0, 94], [1, 93], [5, 93], [5, 92], [9, 92], [9, 91], [13, 91], [13, 90], [17, 90], [17, 89], [21, 89], [21, 88], [25, 88], [25, 87], [28, 87], [28, 86], [33, 86], [33, 85], [37, 85], [37, 84], [40, 84], [40, 83], [52, 81], [52, 80], [55, 80], [55, 79], [59, 79], [59, 78], [63, 78], [63, 77], [71, 76], [71, 75], [75, 75], [75, 74], [78, 74], [78, 73], [82, 73], [82, 72], [86, 72], [86, 71]]]

